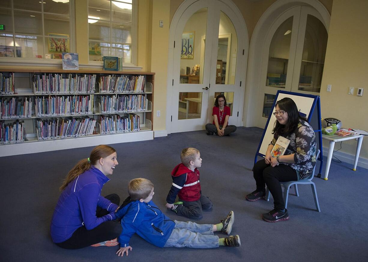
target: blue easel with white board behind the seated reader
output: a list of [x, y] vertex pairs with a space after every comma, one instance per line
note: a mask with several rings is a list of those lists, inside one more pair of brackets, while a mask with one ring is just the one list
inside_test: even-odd
[[[303, 115], [307, 116], [308, 122], [314, 129], [314, 132], [317, 133], [316, 137], [318, 137], [317, 142], [317, 149], [321, 151], [317, 160], [320, 161], [319, 165], [319, 172], [317, 177], [321, 177], [322, 172], [322, 164], [323, 164], [323, 151], [322, 151], [322, 125], [321, 125], [321, 98], [319, 95], [308, 95], [308, 94], [301, 94], [296, 92], [289, 92], [289, 91], [277, 91], [276, 98], [273, 101], [272, 108], [275, 108], [276, 101], [284, 98], [290, 97], [296, 103], [298, 109], [300, 109]], [[317, 109], [317, 110], [315, 110]], [[255, 154], [254, 163], [257, 162], [257, 157], [265, 157], [265, 154], [260, 153], [266, 152], [268, 144], [271, 142], [273, 135], [272, 129], [273, 124], [275, 123], [276, 117], [272, 114], [272, 110], [268, 116], [265, 129], [263, 130], [263, 134], [261, 137], [261, 141], [259, 142], [257, 152]], [[306, 113], [308, 112], [308, 114]]]

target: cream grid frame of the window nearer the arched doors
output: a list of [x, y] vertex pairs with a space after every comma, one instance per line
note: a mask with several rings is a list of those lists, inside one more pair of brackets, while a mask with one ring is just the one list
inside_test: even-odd
[[[112, 1], [113, 0], [108, 0], [110, 1], [110, 21], [107, 20], [103, 20], [103, 19], [96, 19], [98, 21], [103, 21], [103, 22], [109, 22], [110, 23], [110, 30], [112, 29], [112, 23], [114, 23], [114, 21], [112, 21]], [[89, 8], [89, 0], [87, 1], [87, 9]], [[87, 16], [88, 16], [88, 12], [87, 12]], [[130, 44], [131, 46], [131, 53], [130, 53], [130, 63], [123, 63], [123, 67], [136, 67], [137, 66], [137, 31], [138, 31], [138, 1], [137, 0], [132, 0], [132, 24], [131, 24], [131, 38], [132, 38], [132, 42]], [[124, 45], [124, 43], [116, 43], [116, 42], [112, 42], [112, 38], [113, 36], [110, 34], [110, 50], [112, 48], [112, 44], [121, 44]], [[89, 24], [88, 24], [88, 43], [91, 39], [89, 38]], [[92, 40], [93, 42], [99, 42], [96, 40]], [[100, 41], [103, 42], [103, 41]], [[107, 42], [107, 41], [105, 41]], [[103, 57], [103, 56], [102, 56]], [[88, 64], [89, 65], [99, 65], [99, 66], [103, 66], [103, 62], [102, 61], [92, 61], [89, 59], [89, 54], [88, 54]]]

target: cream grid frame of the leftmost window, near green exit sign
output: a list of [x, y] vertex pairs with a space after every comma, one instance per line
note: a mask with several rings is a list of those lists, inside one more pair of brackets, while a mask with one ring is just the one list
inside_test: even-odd
[[[13, 20], [13, 32], [4, 32], [3, 34], [12, 34], [13, 35], [13, 44], [14, 50], [15, 49], [15, 39], [16, 35], [27, 35], [23, 33], [16, 33], [15, 26], [14, 26], [14, 11], [27, 11], [24, 9], [14, 8], [14, 1], [11, 0], [11, 8], [3, 7], [5, 10], [11, 10], [12, 20]], [[54, 14], [49, 12], [43, 11], [43, 5], [41, 5], [41, 11], [32, 11], [32, 13], [39, 13], [42, 15], [42, 30], [43, 34], [45, 34], [45, 19], [44, 14]], [[57, 14], [56, 14], [57, 15]], [[69, 30], [70, 30], [70, 37], [67, 38], [70, 41], [70, 51], [71, 53], [75, 52], [76, 45], [75, 45], [75, 1], [69, 1]], [[45, 45], [45, 38], [49, 37], [47, 35], [36, 35], [43, 38], [43, 58], [29, 58], [29, 57], [0, 57], [0, 66], [42, 66], [42, 65], [60, 65], [62, 63], [61, 59], [46, 59], [45, 54], [47, 50], [47, 46]]]

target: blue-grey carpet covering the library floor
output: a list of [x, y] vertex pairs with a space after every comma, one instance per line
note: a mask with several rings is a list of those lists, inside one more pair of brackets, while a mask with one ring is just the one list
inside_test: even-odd
[[115, 254], [117, 247], [65, 250], [53, 244], [49, 235], [61, 181], [77, 160], [89, 156], [92, 147], [2, 157], [1, 261], [368, 261], [367, 170], [358, 167], [354, 172], [351, 164], [333, 162], [328, 181], [314, 178], [321, 213], [315, 211], [310, 186], [300, 185], [300, 196], [289, 196], [290, 220], [266, 223], [261, 214], [272, 209], [273, 199], [245, 200], [255, 189], [251, 170], [261, 135], [262, 129], [238, 127], [230, 137], [198, 131], [113, 144], [119, 165], [103, 195], [118, 193], [123, 199], [128, 181], [145, 177], [155, 184], [153, 201], [163, 212], [187, 221], [164, 205], [170, 172], [180, 162], [181, 149], [196, 147], [203, 158], [202, 193], [214, 204], [198, 222], [218, 223], [233, 210], [232, 233], [241, 238], [239, 248], [180, 249], [158, 248], [134, 235], [133, 250], [124, 258]]

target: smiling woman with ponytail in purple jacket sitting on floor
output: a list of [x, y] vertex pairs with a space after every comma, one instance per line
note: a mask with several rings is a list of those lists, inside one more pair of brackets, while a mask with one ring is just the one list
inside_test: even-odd
[[[121, 225], [113, 221], [120, 204], [116, 194], [100, 196], [118, 165], [116, 151], [96, 146], [89, 158], [80, 160], [69, 171], [54, 210], [50, 231], [52, 240], [62, 248], [77, 249], [90, 245], [117, 245]], [[98, 244], [96, 244], [98, 243]]]

